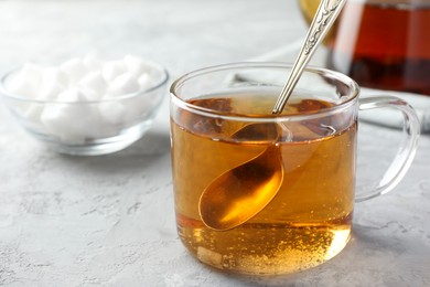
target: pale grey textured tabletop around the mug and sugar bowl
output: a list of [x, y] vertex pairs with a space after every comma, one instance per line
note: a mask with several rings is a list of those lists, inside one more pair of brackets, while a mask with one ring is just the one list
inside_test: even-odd
[[[305, 33], [292, 0], [1, 0], [0, 72], [88, 51], [158, 61], [172, 78], [266, 54]], [[362, 126], [359, 179], [378, 177], [400, 132]], [[103, 157], [53, 153], [0, 108], [0, 285], [430, 286], [430, 136], [405, 180], [356, 205], [337, 257], [294, 275], [226, 275], [181, 245], [168, 95], [153, 128]]]

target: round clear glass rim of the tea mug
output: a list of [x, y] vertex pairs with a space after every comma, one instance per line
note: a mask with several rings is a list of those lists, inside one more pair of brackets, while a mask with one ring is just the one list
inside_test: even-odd
[[[302, 119], [309, 119], [309, 118], [319, 118], [322, 115], [327, 115], [332, 113], [337, 113], [340, 109], [348, 108], [351, 105], [354, 105], [359, 95], [359, 86], [358, 84], [352, 79], [351, 77], [329, 68], [324, 67], [318, 67], [318, 66], [307, 66], [304, 68], [304, 72], [313, 73], [313, 74], [329, 74], [332, 75], [333, 78], [336, 78], [341, 83], [346, 84], [348, 87], [351, 87], [351, 95], [348, 98], [338, 105], [334, 105], [331, 107], [326, 107], [323, 109], [319, 109], [316, 111], [308, 111], [308, 113], [300, 113], [300, 114], [288, 114], [288, 115], [247, 115], [247, 114], [239, 114], [239, 113], [226, 113], [226, 111], [219, 111], [206, 107], [196, 106], [194, 104], [191, 104], [184, 99], [182, 99], [179, 95], [176, 95], [178, 88], [180, 88], [186, 81], [192, 79], [194, 77], [197, 77], [200, 75], [209, 74], [213, 72], [219, 72], [219, 71], [227, 71], [227, 70], [234, 70], [234, 68], [246, 68], [246, 67], [256, 67], [256, 68], [286, 68], [291, 70], [293, 64], [291, 63], [282, 63], [282, 62], [235, 62], [235, 63], [227, 63], [227, 64], [221, 64], [221, 65], [214, 65], [214, 66], [207, 66], [203, 68], [198, 68], [192, 72], [189, 72], [186, 74], [183, 74], [182, 76], [178, 77], [170, 86], [170, 96], [171, 102], [174, 103], [180, 108], [186, 109], [189, 111], [198, 114], [201, 116], [206, 117], [222, 117], [222, 118], [229, 118], [235, 120], [258, 120], [258, 121], [273, 121], [273, 119], [277, 120], [302, 120]], [[303, 72], [303, 73], [304, 73]], [[287, 81], [288, 74], [286, 74], [286, 81]]]

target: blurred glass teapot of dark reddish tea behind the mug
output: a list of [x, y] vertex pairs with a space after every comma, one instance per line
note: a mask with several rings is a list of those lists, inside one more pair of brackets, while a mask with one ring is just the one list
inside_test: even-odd
[[[311, 21], [319, 0], [300, 0]], [[359, 85], [430, 96], [430, 0], [351, 0], [325, 40], [326, 66]]]

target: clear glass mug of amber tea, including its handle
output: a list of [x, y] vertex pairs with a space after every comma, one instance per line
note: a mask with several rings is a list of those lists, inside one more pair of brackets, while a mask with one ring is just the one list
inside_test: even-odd
[[[413, 109], [391, 96], [359, 99], [357, 84], [337, 72], [307, 68], [283, 113], [272, 115], [290, 70], [227, 64], [171, 86], [178, 232], [205, 264], [275, 275], [329, 261], [348, 242], [354, 202], [391, 190], [413, 159]], [[405, 140], [378, 182], [356, 187], [357, 114], [374, 108], [404, 114]]]

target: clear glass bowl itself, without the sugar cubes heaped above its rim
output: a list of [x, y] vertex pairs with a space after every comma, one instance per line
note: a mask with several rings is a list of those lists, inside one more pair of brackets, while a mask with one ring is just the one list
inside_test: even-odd
[[150, 84], [115, 97], [71, 102], [12, 93], [8, 87], [22, 67], [1, 78], [0, 94], [19, 125], [50, 149], [77, 156], [106, 155], [140, 139], [160, 109], [169, 74], [157, 63], [144, 63]]

